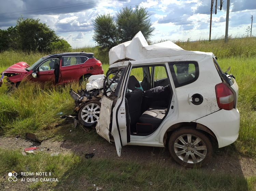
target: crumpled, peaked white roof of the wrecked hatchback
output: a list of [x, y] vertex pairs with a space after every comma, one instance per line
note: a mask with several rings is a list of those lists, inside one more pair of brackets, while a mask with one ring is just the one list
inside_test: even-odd
[[[154, 45], [148, 45], [142, 32], [139, 31], [130, 41], [124, 42], [110, 49], [109, 65], [124, 60], [142, 60], [180, 56], [188, 54], [209, 54], [199, 51], [187, 51], [168, 40]], [[212, 53], [211, 53], [212, 54]]]

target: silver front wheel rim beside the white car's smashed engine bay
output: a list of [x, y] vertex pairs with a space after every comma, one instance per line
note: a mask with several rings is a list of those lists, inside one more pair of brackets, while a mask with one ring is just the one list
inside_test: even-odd
[[81, 118], [86, 123], [94, 123], [100, 117], [100, 106], [96, 103], [89, 103], [84, 106]]

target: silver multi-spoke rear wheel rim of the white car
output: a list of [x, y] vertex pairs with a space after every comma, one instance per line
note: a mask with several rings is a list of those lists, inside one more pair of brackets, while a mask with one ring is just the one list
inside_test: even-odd
[[199, 137], [185, 134], [175, 140], [174, 152], [182, 161], [195, 164], [205, 158], [207, 146]]

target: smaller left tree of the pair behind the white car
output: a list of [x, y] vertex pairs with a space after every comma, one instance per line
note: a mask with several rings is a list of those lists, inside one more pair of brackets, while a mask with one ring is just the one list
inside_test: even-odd
[[110, 14], [97, 15], [94, 21], [93, 39], [98, 42], [101, 49], [109, 49], [119, 44], [113, 16], [110, 16]]

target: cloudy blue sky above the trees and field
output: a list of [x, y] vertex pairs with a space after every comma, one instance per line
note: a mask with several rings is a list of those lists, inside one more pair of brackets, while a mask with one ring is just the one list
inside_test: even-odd
[[[211, 39], [225, 36], [227, 0], [220, 11], [215, 1]], [[209, 39], [211, 0], [0, 0], [0, 29], [15, 26], [19, 17], [40, 19], [72, 48], [95, 46], [93, 21], [97, 15], [116, 15], [123, 7], [144, 7], [155, 28], [152, 42]], [[256, 0], [230, 0], [228, 35], [242, 37], [252, 25], [256, 36]]]

